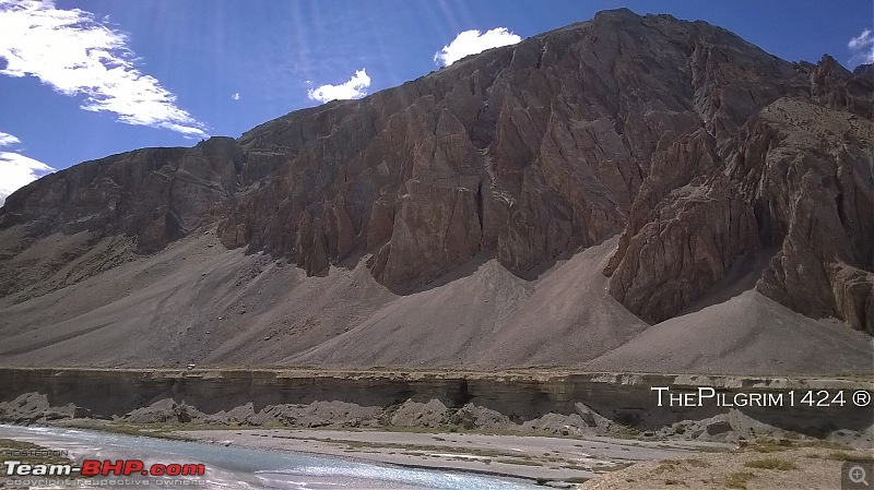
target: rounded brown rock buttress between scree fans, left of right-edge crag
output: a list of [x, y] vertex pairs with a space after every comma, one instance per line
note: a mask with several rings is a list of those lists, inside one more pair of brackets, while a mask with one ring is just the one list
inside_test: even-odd
[[759, 246], [753, 212], [719, 171], [714, 144], [697, 130], [656, 153], [605, 270], [611, 294], [649, 322], [674, 316]]

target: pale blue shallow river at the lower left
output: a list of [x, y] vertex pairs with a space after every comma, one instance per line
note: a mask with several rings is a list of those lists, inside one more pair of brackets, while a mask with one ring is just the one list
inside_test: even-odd
[[[199, 442], [168, 441], [80, 429], [0, 425], [0, 439], [28, 441], [63, 450], [82, 459], [141, 459], [153, 464], [203, 464], [197, 477], [158, 478], [110, 475], [85, 487], [70, 477], [15, 477], [31, 488], [200, 488], [200, 489], [533, 489], [518, 480], [481, 475], [375, 465], [352, 459], [259, 451]], [[13, 459], [0, 454], [0, 461]], [[0, 477], [0, 482], [5, 481]], [[37, 480], [37, 481], [34, 481]], [[36, 485], [34, 485], [36, 483]], [[8, 485], [7, 487], [10, 487]], [[542, 487], [541, 487], [542, 488]]]

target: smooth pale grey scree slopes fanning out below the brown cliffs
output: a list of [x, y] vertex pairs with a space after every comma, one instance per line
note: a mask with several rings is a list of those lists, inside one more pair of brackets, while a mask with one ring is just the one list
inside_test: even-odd
[[[50, 256], [50, 247], [79, 239], [55, 236], [24, 253]], [[224, 250], [206, 231], [7, 306], [2, 359], [32, 367], [572, 367], [746, 374], [874, 369], [869, 335], [808, 319], [752, 289], [649, 326], [606, 290], [600, 268], [615, 243], [589, 248], [533, 280], [493, 259], [399, 296], [363, 264], [307, 277], [284, 260]]]

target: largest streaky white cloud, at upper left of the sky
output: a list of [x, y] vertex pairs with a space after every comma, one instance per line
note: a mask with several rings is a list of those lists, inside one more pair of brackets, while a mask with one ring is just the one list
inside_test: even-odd
[[56, 92], [83, 95], [85, 110], [115, 112], [128, 124], [206, 136], [203, 124], [176, 106], [176, 95], [134, 65], [123, 34], [52, 0], [0, 0], [0, 74], [35, 76]]

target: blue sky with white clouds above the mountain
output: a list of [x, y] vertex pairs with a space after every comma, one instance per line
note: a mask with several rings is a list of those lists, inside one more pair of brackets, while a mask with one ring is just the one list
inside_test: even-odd
[[[425, 75], [465, 48], [512, 43], [604, 9], [704, 20], [790, 61], [827, 52], [852, 69], [874, 57], [873, 4], [0, 0], [0, 200], [49, 168], [239, 136], [332, 97]], [[453, 44], [471, 29], [485, 39], [468, 33]], [[449, 59], [435, 58], [446, 46]]]

